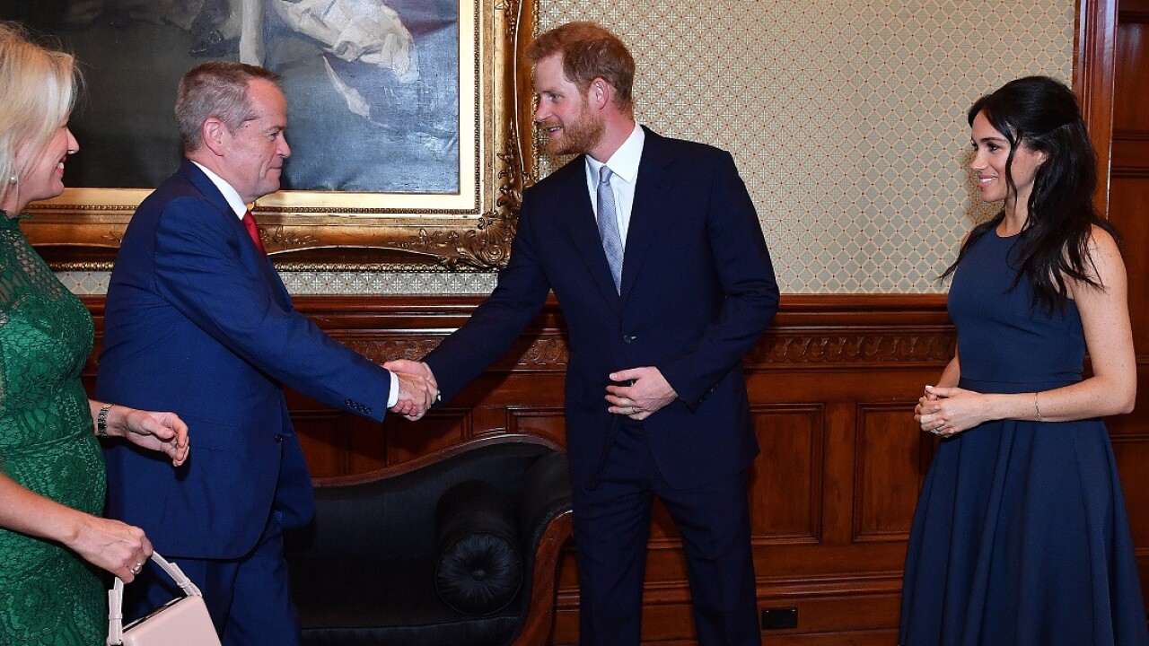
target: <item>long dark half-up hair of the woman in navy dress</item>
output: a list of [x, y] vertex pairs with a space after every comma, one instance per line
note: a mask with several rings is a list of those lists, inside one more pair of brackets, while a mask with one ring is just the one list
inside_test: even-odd
[[[1012, 194], [1017, 194], [1011, 170], [1018, 147], [1046, 153], [1046, 161], [1034, 172], [1028, 214], [1018, 236], [1019, 264], [1013, 286], [1025, 278], [1033, 285], [1030, 303], [1033, 309], [1040, 308], [1046, 314], [1055, 309], [1064, 312], [1069, 303], [1066, 277], [1103, 287], [1089, 270], [1093, 268], [1090, 228], [1097, 225], [1118, 244], [1120, 241], [1113, 225], [1093, 206], [1097, 154], [1089, 141], [1077, 99], [1061, 82], [1048, 76], [1027, 76], [978, 99], [966, 115], [970, 125], [978, 114], [985, 115], [1009, 140], [1005, 182]], [[1004, 217], [1003, 209], [989, 222], [976, 226], [942, 278], [953, 274], [973, 243]]]

